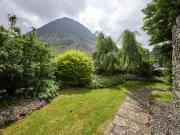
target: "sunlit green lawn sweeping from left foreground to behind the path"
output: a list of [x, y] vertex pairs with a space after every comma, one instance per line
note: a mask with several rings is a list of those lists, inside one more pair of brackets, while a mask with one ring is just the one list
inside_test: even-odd
[[113, 118], [130, 89], [168, 88], [160, 83], [128, 82], [107, 89], [64, 90], [43, 109], [2, 129], [3, 135], [100, 134]]

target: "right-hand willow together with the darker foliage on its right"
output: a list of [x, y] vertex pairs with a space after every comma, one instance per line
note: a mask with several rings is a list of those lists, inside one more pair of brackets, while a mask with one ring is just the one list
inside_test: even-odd
[[121, 48], [119, 50], [119, 70], [125, 73], [134, 73], [151, 77], [152, 62], [150, 52], [144, 49], [136, 40], [136, 33], [125, 30], [121, 35]]

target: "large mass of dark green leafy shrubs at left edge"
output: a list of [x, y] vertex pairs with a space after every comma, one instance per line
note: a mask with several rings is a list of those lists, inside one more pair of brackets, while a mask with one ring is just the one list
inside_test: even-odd
[[17, 88], [35, 87], [41, 79], [52, 76], [51, 55], [47, 44], [32, 34], [21, 35], [16, 16], [9, 17], [9, 28], [0, 28], [0, 89], [8, 94]]

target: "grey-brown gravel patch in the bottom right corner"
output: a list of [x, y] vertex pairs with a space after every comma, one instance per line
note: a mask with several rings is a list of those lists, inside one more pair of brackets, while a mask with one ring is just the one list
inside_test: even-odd
[[180, 135], [180, 101], [171, 103], [151, 102], [152, 135]]

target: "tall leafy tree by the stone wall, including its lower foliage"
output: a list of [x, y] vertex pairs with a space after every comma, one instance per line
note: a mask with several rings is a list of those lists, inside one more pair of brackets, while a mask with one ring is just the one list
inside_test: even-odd
[[180, 14], [180, 1], [152, 0], [142, 12], [145, 15], [143, 30], [150, 35], [151, 45], [161, 45], [162, 64], [171, 78], [172, 28]]

